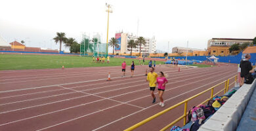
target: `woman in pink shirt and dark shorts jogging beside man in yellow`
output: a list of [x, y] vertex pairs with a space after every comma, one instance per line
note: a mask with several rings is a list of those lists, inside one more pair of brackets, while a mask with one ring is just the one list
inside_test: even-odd
[[163, 92], [165, 91], [165, 84], [168, 83], [167, 79], [165, 78], [165, 74], [160, 71], [160, 77], [156, 79], [156, 83], [158, 83], [158, 95], [160, 99], [159, 105], [164, 107], [165, 104], [163, 103]]

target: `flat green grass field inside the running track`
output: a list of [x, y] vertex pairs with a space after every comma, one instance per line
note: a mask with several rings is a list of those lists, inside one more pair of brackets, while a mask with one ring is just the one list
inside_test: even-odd
[[[20, 55], [20, 54], [0, 54], [0, 70], [9, 69], [51, 69], [64, 67], [101, 67], [101, 66], [117, 66], [126, 61], [127, 65], [131, 65], [135, 61], [135, 65], [139, 65], [139, 60], [127, 58], [110, 58], [110, 63], [104, 64], [93, 63], [91, 57], [81, 56], [51, 56], [51, 55]], [[145, 64], [148, 64], [148, 60]], [[156, 64], [164, 62], [156, 62]]]

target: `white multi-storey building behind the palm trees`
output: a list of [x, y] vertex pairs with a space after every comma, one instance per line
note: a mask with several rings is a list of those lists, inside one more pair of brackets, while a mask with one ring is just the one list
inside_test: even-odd
[[[116, 33], [116, 39], [119, 41], [117, 43], [119, 45], [118, 48], [115, 48], [116, 53], [121, 54], [129, 54], [131, 53], [131, 49], [127, 48], [128, 41], [131, 39], [137, 40], [139, 37], [129, 34], [129, 33]], [[152, 39], [144, 38], [146, 41], [145, 45], [141, 45], [141, 53], [142, 55], [149, 55], [150, 53], [156, 52], [156, 39], [155, 37], [152, 37]], [[140, 47], [137, 46], [137, 48], [133, 48], [133, 52], [140, 52]]]

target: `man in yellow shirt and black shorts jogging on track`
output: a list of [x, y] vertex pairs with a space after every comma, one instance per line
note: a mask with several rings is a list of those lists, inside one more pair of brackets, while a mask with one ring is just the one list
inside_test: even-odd
[[156, 89], [156, 78], [158, 77], [158, 74], [154, 72], [154, 67], [150, 68], [150, 73], [148, 73], [148, 77], [146, 78], [146, 81], [148, 81], [150, 86], [150, 94], [153, 98], [153, 102], [156, 102], [156, 96], [154, 94], [154, 91]]

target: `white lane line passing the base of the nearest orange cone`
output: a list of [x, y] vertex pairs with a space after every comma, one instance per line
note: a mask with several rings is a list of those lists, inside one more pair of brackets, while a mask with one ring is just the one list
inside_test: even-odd
[[[186, 70], [191, 70], [191, 69], [186, 69]], [[173, 72], [173, 71], [165, 71], [165, 72]], [[136, 76], [143, 76], [143, 75], [134, 75], [134, 76], [136, 77]], [[122, 78], [122, 77], [112, 77], [112, 79], [118, 79], [118, 78]], [[48, 86], [38, 86], [38, 87], [33, 87], [33, 88], [22, 88], [22, 89], [15, 89], [15, 90], [5, 90], [5, 91], [0, 91], [0, 93], [16, 92], [16, 91], [20, 91], [20, 90], [32, 90], [32, 89], [35, 89], [35, 88], [46, 88], [46, 87], [51, 87], [51, 86], [63, 86], [63, 85], [68, 85], [68, 84], [89, 83], [89, 82], [102, 81], [102, 80], [106, 80], [106, 79], [96, 79], [96, 80], [89, 80], [89, 81], [78, 81], [78, 82], [74, 82], [74, 83], [52, 84], [52, 85], [48, 85]]]

